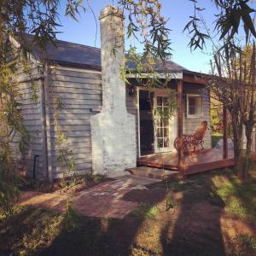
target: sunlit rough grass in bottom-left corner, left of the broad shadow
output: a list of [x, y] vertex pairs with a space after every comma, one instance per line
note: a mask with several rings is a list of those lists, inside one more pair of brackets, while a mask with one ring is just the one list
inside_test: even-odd
[[13, 218], [0, 218], [0, 254], [35, 255], [55, 240], [62, 221], [60, 213], [15, 207]]

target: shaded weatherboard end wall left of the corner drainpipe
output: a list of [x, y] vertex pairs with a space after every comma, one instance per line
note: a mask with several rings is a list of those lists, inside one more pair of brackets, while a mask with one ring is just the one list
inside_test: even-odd
[[[43, 146], [43, 105], [41, 100], [41, 90], [44, 81], [42, 74], [35, 62], [29, 62], [30, 75], [24, 73], [21, 64], [17, 65], [15, 82], [18, 83], [17, 101], [20, 102], [20, 113], [23, 117], [24, 125], [29, 131], [30, 141], [24, 145], [20, 154], [20, 170], [26, 171], [28, 176], [32, 176], [34, 156], [38, 155], [36, 164], [37, 177], [45, 177], [45, 160]], [[33, 79], [34, 85], [32, 86]], [[32, 99], [32, 94], [38, 96], [38, 100]], [[26, 139], [27, 140], [27, 139]]]

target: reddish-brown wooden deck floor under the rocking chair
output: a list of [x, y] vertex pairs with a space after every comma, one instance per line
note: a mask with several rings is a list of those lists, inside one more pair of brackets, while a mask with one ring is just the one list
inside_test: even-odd
[[177, 168], [177, 153], [152, 154], [137, 159], [138, 166], [151, 166], [167, 170], [183, 171], [183, 175], [206, 172], [235, 165], [234, 151], [228, 151], [228, 158], [223, 159], [222, 149], [207, 149], [199, 154], [185, 154], [183, 170]]

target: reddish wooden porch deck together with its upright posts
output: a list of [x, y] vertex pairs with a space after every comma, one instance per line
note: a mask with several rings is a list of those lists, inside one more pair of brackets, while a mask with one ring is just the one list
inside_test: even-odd
[[[183, 114], [184, 96], [183, 83], [205, 85], [206, 82], [200, 76], [184, 76], [177, 79], [177, 150], [164, 153], [141, 155], [137, 158], [137, 166], [149, 166], [153, 168], [164, 168], [180, 172], [183, 176], [199, 172], [211, 171], [218, 168], [230, 167], [235, 165], [234, 151], [228, 149], [227, 140], [227, 109], [223, 109], [224, 143], [223, 149], [206, 148], [193, 154], [185, 154], [183, 151]], [[210, 125], [210, 124], [209, 124]], [[163, 152], [163, 151], [161, 151]], [[156, 169], [157, 171], [157, 169]]]

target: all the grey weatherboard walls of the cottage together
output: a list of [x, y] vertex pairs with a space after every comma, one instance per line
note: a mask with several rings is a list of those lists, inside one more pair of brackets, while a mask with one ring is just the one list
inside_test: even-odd
[[[34, 79], [38, 79], [42, 74], [36, 67], [32, 68]], [[77, 166], [77, 174], [92, 171], [91, 156], [91, 131], [90, 117], [99, 113], [102, 109], [102, 75], [97, 71], [85, 69], [75, 69], [67, 67], [55, 67], [49, 71], [49, 98], [50, 98], [50, 140], [51, 140], [51, 161], [53, 167], [53, 177], [63, 177], [67, 172], [67, 167], [61, 166], [57, 160], [60, 155], [60, 148], [56, 143], [56, 126], [54, 125], [54, 104], [56, 98], [60, 98], [63, 103], [63, 109], [58, 110], [58, 126], [67, 137], [67, 149], [73, 150], [74, 160]], [[16, 79], [19, 82], [29, 78], [22, 72], [17, 71]], [[21, 165], [23, 170], [32, 175], [33, 157], [38, 154], [37, 159], [37, 177], [46, 177], [46, 164], [44, 162], [44, 136], [43, 136], [43, 102], [40, 100], [41, 90], [44, 80], [37, 80], [38, 83], [38, 103], [32, 102], [32, 83], [20, 83], [17, 85], [17, 91], [20, 96], [20, 112], [24, 118], [24, 124], [32, 135], [29, 145], [26, 145], [21, 154]], [[185, 93], [201, 94], [201, 90], [193, 88], [194, 85], [184, 86]], [[127, 112], [135, 116], [136, 119], [136, 143], [138, 142], [137, 127], [137, 90], [129, 96], [126, 89], [125, 103]], [[186, 102], [184, 102], [186, 110]], [[203, 91], [203, 116], [201, 118], [187, 118], [186, 111], [183, 114], [183, 132], [193, 133], [197, 125], [207, 120], [210, 124], [210, 100], [207, 90]], [[210, 125], [209, 125], [210, 127]], [[211, 131], [207, 131], [205, 137], [205, 147], [211, 148]], [[137, 143], [138, 155], [138, 143]]]

